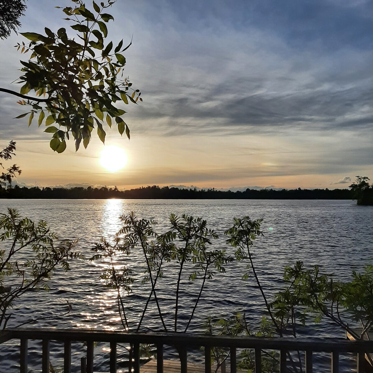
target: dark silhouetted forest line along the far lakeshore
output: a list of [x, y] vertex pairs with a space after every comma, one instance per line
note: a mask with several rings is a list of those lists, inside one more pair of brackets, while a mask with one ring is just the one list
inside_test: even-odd
[[0, 188], [0, 198], [43, 198], [43, 199], [242, 199], [242, 200], [352, 200], [349, 189], [246, 189], [245, 191], [219, 191], [212, 189], [179, 189], [157, 185], [120, 191], [115, 188], [26, 188], [15, 185]]

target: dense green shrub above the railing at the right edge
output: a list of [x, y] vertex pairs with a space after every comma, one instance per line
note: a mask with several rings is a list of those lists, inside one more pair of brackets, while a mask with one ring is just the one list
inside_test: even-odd
[[[373, 266], [366, 266], [363, 273], [352, 272], [352, 281], [341, 282], [332, 275], [320, 273], [318, 266], [304, 269], [298, 261], [294, 268], [286, 267], [284, 279], [290, 285], [276, 295], [273, 307], [282, 302], [282, 310], [291, 315], [291, 325], [295, 333], [296, 315], [303, 314], [305, 325], [307, 313], [314, 316], [318, 323], [323, 317], [330, 319], [335, 325], [348, 330], [356, 336], [356, 331], [349, 325], [360, 323], [361, 333], [357, 338], [372, 330], [373, 325]], [[278, 307], [279, 308], [279, 307]], [[342, 312], [344, 311], [344, 312]]]

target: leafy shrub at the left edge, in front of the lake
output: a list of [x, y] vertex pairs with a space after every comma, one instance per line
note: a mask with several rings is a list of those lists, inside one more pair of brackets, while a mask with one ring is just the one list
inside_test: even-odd
[[46, 222], [34, 223], [14, 209], [0, 214], [0, 242], [0, 327], [4, 329], [16, 300], [32, 289], [48, 291], [53, 272], [68, 271], [70, 260], [81, 254], [73, 251], [76, 241], [59, 241]]

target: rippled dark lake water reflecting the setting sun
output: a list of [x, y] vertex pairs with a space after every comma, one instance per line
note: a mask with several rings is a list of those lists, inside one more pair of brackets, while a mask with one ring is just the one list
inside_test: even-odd
[[[135, 211], [138, 217], [158, 221], [159, 232], [169, 228], [170, 213], [192, 214], [207, 219], [208, 226], [220, 238], [214, 247], [227, 247], [223, 232], [232, 225], [233, 217], [249, 215], [252, 219], [263, 218], [264, 238], [254, 245], [254, 263], [265, 292], [271, 298], [273, 291], [282, 285], [283, 269], [296, 260], [306, 266], [319, 264], [322, 271], [335, 274], [337, 279], [350, 279], [352, 270], [361, 270], [373, 263], [373, 208], [357, 206], [354, 201], [285, 201], [285, 200], [0, 200], [0, 212], [7, 207], [21, 211], [30, 219], [43, 219], [60, 238], [79, 238], [77, 248], [87, 258], [90, 249], [101, 236], [110, 238], [120, 228], [118, 216]], [[227, 247], [228, 250], [229, 247]], [[141, 284], [144, 269], [141, 253], [127, 258], [136, 273], [137, 282], [133, 294], [126, 297], [130, 326], [134, 326], [147, 298], [147, 288]], [[13, 317], [8, 326], [16, 326], [31, 316], [58, 315], [66, 310], [66, 301], [73, 305], [72, 312], [65, 317], [45, 320], [34, 327], [61, 327], [82, 329], [121, 330], [117, 314], [116, 299], [112, 291], [103, 287], [98, 276], [104, 262], [77, 261], [68, 273], [59, 272], [50, 282], [49, 293], [26, 294], [12, 310]], [[253, 277], [244, 281], [244, 263], [232, 263], [226, 273], [210, 280], [197, 308], [191, 330], [201, 331], [207, 316], [228, 317], [245, 311], [248, 323], [255, 328], [265, 313], [263, 301]], [[173, 269], [159, 282], [158, 295], [166, 322], [172, 325], [175, 281]], [[187, 320], [188, 310], [197, 296], [198, 289], [184, 281], [181, 292], [181, 325]], [[160, 329], [154, 305], [148, 310], [145, 325], [148, 329]], [[304, 331], [313, 336], [338, 336], [344, 333], [323, 321]], [[78, 364], [84, 347], [73, 355]], [[40, 364], [40, 344], [29, 348], [29, 367]], [[62, 365], [59, 347], [51, 349], [55, 366]], [[169, 351], [168, 357], [172, 356]], [[0, 373], [17, 372], [16, 361], [19, 350], [16, 344], [0, 347]], [[105, 346], [95, 349], [95, 371], [109, 370]], [[198, 360], [198, 352], [192, 356]], [[350, 357], [345, 357], [347, 362]], [[124, 363], [123, 363], [124, 364]], [[40, 366], [40, 365], [39, 365]], [[346, 363], [346, 366], [348, 364]], [[120, 367], [120, 365], [119, 365]], [[19, 368], [18, 368], [19, 369]], [[77, 368], [76, 368], [77, 369]], [[347, 368], [346, 368], [347, 369]], [[77, 371], [77, 370], [76, 370]]]

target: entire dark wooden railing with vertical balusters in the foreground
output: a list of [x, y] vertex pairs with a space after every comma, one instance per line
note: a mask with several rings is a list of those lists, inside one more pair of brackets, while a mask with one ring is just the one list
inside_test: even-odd
[[328, 352], [331, 354], [331, 372], [339, 371], [339, 354], [352, 352], [357, 354], [357, 372], [365, 369], [365, 354], [373, 352], [373, 341], [348, 341], [334, 338], [261, 338], [208, 336], [185, 333], [130, 333], [107, 331], [72, 331], [66, 329], [29, 329], [14, 328], [0, 332], [0, 344], [11, 339], [20, 340], [20, 373], [28, 372], [27, 350], [28, 340], [41, 340], [42, 373], [49, 373], [50, 341], [64, 342], [64, 373], [71, 373], [71, 342], [87, 343], [87, 373], [93, 373], [94, 342], [110, 343], [110, 373], [116, 373], [117, 343], [127, 343], [133, 346], [134, 373], [140, 373], [140, 344], [152, 344], [157, 348], [157, 373], [163, 373], [163, 347], [175, 346], [179, 352], [181, 373], [187, 373], [188, 348], [204, 347], [205, 373], [211, 373], [211, 348], [222, 347], [230, 349], [230, 370], [237, 372], [236, 350], [240, 348], [255, 351], [255, 372], [261, 373], [261, 351], [280, 351], [280, 373], [286, 371], [286, 356], [288, 351], [305, 351], [305, 372], [313, 372], [313, 352]]

